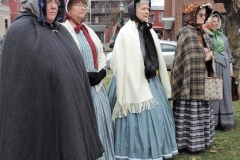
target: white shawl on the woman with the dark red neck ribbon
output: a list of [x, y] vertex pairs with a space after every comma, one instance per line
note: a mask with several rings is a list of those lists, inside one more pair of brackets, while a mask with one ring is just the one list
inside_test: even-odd
[[[74, 41], [76, 42], [76, 44], [80, 50], [80, 44], [77, 39], [76, 32], [74, 31], [70, 21], [67, 19], [64, 23], [61, 23], [61, 24], [70, 32], [70, 34], [72, 35]], [[90, 27], [88, 27], [87, 25], [85, 25], [85, 27], [87, 28], [88, 33], [89, 33], [90, 37], [92, 38], [93, 43], [95, 44], [95, 47], [97, 49], [98, 71], [100, 71], [101, 69], [103, 69], [106, 66], [106, 57], [103, 52], [102, 42], [100, 41], [100, 39], [98, 38], [96, 33]], [[96, 92], [98, 92], [102, 86], [103, 86], [103, 81], [101, 81], [98, 85], [95, 85]]]

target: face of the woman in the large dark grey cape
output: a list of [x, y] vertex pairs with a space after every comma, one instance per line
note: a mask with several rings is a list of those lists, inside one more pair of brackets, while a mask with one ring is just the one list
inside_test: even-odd
[[46, 1], [46, 22], [51, 24], [57, 16], [58, 12], [58, 0], [47, 0]]

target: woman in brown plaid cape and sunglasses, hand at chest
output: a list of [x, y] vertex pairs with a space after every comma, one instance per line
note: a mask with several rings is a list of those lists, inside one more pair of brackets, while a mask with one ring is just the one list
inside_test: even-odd
[[213, 74], [212, 51], [202, 28], [212, 10], [210, 3], [187, 6], [187, 21], [177, 36], [171, 85], [179, 150], [204, 151], [214, 140], [212, 104], [204, 101], [206, 71], [208, 76]]

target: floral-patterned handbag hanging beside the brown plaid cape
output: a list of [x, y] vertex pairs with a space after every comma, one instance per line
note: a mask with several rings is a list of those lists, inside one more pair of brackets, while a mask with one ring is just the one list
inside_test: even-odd
[[216, 69], [213, 62], [213, 77], [205, 77], [205, 98], [206, 101], [221, 100], [223, 98], [223, 79], [216, 75]]

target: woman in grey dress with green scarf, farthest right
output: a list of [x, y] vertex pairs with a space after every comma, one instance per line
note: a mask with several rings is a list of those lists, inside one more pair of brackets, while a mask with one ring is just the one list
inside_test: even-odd
[[223, 77], [223, 99], [212, 102], [215, 127], [222, 129], [234, 126], [231, 92], [233, 57], [229, 48], [228, 38], [222, 33], [224, 21], [223, 16], [218, 11], [214, 11], [208, 23], [204, 25], [210, 36], [216, 63], [216, 74]]

